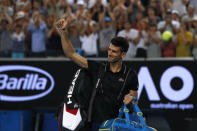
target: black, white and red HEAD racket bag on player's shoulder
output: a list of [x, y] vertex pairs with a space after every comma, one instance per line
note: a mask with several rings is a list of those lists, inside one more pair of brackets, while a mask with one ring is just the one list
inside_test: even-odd
[[76, 71], [60, 106], [60, 131], [78, 131], [87, 122], [91, 84], [87, 70], [81, 68]]

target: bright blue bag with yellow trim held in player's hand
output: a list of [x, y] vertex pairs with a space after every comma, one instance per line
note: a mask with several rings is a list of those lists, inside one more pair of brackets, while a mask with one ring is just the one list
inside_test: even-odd
[[[133, 108], [134, 114], [129, 114], [127, 106], [123, 105], [118, 118], [104, 121], [99, 127], [99, 131], [157, 131], [146, 125], [142, 116], [143, 114], [136, 102], [134, 102]], [[123, 114], [125, 115], [125, 119], [123, 118]]]

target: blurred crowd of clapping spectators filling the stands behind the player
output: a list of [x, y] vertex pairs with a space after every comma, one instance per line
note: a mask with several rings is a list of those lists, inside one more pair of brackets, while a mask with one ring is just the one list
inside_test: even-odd
[[127, 58], [197, 57], [197, 0], [0, 0], [0, 57], [65, 57], [54, 22], [68, 14], [85, 57], [106, 57], [114, 36], [128, 39]]

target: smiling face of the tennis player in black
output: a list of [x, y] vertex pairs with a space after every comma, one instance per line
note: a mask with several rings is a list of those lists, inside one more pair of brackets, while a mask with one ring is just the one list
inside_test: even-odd
[[116, 63], [122, 60], [126, 53], [121, 52], [120, 47], [110, 44], [108, 49], [108, 62]]

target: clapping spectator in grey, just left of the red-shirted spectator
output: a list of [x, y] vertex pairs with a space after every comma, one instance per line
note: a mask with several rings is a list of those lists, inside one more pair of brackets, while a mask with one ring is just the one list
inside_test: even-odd
[[157, 24], [149, 23], [147, 57], [161, 57], [161, 32], [157, 30]]

